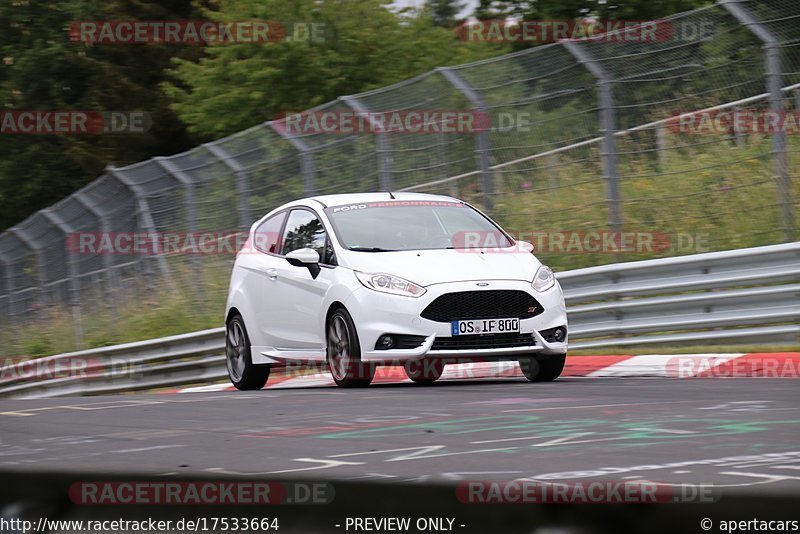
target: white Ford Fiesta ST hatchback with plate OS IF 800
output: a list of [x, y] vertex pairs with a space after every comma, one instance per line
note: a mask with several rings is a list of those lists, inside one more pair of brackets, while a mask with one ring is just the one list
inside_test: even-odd
[[297, 200], [257, 221], [233, 267], [226, 357], [238, 389], [327, 363], [340, 386], [378, 365], [429, 384], [447, 363], [517, 360], [556, 379], [567, 315], [553, 272], [460, 200], [416, 193]]

